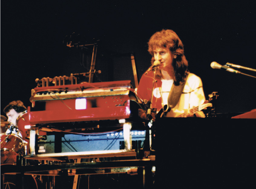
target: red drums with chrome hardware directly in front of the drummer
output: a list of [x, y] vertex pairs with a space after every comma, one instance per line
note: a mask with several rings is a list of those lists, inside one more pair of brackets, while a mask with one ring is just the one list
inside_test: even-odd
[[[1, 165], [15, 165], [17, 156], [26, 154], [28, 131], [22, 127], [21, 122], [25, 120], [22, 115], [24, 114], [21, 114], [17, 119], [17, 123], [20, 122], [20, 127], [10, 124], [6, 121], [7, 118], [1, 115]], [[19, 132], [22, 137], [18, 134]]]

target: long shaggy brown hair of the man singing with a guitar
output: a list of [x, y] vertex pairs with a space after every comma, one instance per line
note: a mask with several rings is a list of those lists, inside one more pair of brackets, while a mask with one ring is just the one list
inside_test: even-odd
[[[174, 84], [178, 86], [181, 82], [184, 82], [185, 77], [189, 73], [188, 61], [184, 55], [184, 46], [179, 36], [173, 30], [162, 30], [154, 33], [148, 42], [148, 52], [152, 55], [151, 64], [153, 65], [154, 59], [154, 49], [156, 48], [168, 48], [170, 51], [177, 55], [172, 61], [172, 66], [174, 68]], [[156, 72], [156, 77], [161, 79], [161, 71]]]

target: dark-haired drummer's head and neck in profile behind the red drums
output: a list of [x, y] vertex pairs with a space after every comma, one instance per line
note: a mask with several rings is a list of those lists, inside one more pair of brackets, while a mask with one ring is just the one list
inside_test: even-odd
[[5, 132], [6, 134], [17, 134], [22, 138], [21, 132], [18, 130], [16, 121], [19, 115], [21, 115], [26, 110], [27, 108], [20, 100], [12, 101], [4, 108], [4, 112], [8, 117], [7, 121], [10, 123], [10, 127]]

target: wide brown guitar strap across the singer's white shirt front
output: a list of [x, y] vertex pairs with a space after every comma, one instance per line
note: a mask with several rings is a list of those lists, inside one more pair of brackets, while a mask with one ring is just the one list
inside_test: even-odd
[[177, 103], [179, 102], [181, 93], [184, 89], [186, 80], [187, 80], [188, 75], [184, 78], [184, 81], [182, 83], [180, 83], [178, 86], [174, 85], [174, 83], [172, 84], [171, 90], [169, 92], [168, 95], [168, 112], [174, 108]]

